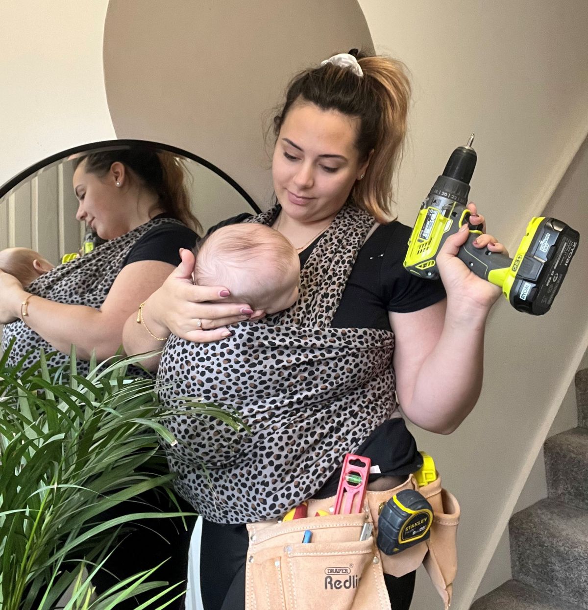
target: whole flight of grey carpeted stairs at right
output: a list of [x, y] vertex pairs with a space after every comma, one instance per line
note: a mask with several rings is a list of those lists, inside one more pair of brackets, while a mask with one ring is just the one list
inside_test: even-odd
[[588, 369], [575, 376], [578, 428], [545, 441], [548, 498], [512, 515], [512, 578], [470, 610], [588, 610]]

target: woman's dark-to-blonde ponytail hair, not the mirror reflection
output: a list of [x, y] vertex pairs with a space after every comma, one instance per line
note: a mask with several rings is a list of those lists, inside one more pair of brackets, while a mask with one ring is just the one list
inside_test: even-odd
[[332, 63], [297, 74], [288, 85], [281, 112], [274, 117], [274, 134], [277, 138], [292, 105], [301, 102], [359, 118], [355, 146], [360, 162], [374, 152], [366, 176], [355, 182], [351, 195], [356, 206], [386, 223], [391, 215], [392, 176], [402, 157], [406, 134], [410, 82], [401, 62], [367, 56], [357, 49], [351, 53], [363, 77]]

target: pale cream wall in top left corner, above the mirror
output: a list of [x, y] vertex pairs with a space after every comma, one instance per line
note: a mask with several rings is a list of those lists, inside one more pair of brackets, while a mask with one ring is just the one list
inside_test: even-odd
[[107, 0], [0, 6], [0, 185], [35, 162], [115, 137], [104, 92]]

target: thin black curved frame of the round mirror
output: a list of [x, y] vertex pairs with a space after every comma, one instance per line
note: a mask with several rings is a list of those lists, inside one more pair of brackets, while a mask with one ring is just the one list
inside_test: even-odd
[[127, 146], [146, 146], [147, 148], [154, 148], [161, 151], [172, 152], [173, 154], [177, 154], [179, 157], [186, 157], [186, 159], [190, 159], [200, 165], [203, 165], [208, 170], [213, 171], [220, 178], [222, 178], [225, 182], [228, 182], [235, 190], [239, 193], [247, 203], [252, 207], [252, 209], [256, 213], [260, 213], [260, 207], [253, 201], [249, 193], [244, 190], [238, 182], [235, 182], [228, 174], [225, 174], [224, 171], [207, 161], [206, 159], [202, 159], [202, 157], [193, 154], [192, 152], [188, 152], [183, 150], [182, 148], [177, 148], [177, 146], [171, 146], [169, 144], [162, 144], [161, 142], [152, 142], [151, 140], [101, 140], [99, 142], [90, 142], [87, 144], [82, 144], [80, 146], [74, 146], [73, 148], [68, 148], [65, 151], [57, 152], [56, 154], [51, 155], [50, 157], [46, 157], [45, 159], [34, 163], [26, 170], [21, 171], [19, 174], [16, 174], [14, 178], [11, 178], [8, 182], [5, 182], [0, 187], [0, 199], [2, 199], [5, 195], [10, 193], [13, 188], [17, 187], [21, 182], [24, 182], [27, 178], [37, 173], [39, 170], [42, 170], [44, 167], [51, 165], [51, 163], [55, 163], [59, 160], [64, 159], [65, 157], [69, 157], [73, 154], [78, 154], [80, 152], [88, 152], [91, 150], [96, 150], [97, 148], [104, 149], [112, 149], [116, 147], [126, 148]]

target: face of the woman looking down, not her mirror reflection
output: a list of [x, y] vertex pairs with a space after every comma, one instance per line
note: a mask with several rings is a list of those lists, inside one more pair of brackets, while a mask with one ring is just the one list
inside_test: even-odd
[[284, 212], [301, 222], [333, 218], [367, 167], [355, 148], [359, 118], [292, 104], [274, 149], [274, 190]]

